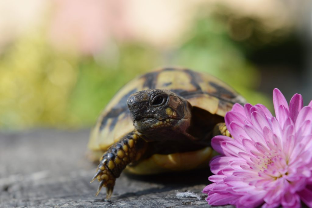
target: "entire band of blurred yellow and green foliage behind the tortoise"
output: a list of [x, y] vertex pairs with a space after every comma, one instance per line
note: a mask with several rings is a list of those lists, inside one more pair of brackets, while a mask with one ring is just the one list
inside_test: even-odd
[[35, 31], [8, 46], [0, 57], [0, 128], [81, 128], [95, 123], [101, 109], [125, 83], [160, 66], [182, 66], [210, 73], [251, 104], [271, 101], [256, 92], [257, 69], [218, 19], [198, 18], [174, 50], [126, 42], [113, 58], [55, 51]]

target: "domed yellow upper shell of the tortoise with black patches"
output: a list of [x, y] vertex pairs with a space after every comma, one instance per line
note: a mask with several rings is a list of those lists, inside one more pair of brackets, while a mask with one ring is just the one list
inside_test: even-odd
[[88, 148], [103, 153], [122, 136], [134, 130], [127, 99], [144, 89], [167, 89], [187, 99], [195, 107], [222, 117], [234, 103], [245, 99], [230, 86], [210, 74], [190, 69], [163, 68], [144, 74], [126, 84], [101, 113], [91, 132]]

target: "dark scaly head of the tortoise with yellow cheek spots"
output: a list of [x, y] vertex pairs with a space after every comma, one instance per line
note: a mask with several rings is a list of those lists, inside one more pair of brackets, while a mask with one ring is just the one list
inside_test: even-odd
[[[169, 90], [142, 90], [130, 95], [127, 102], [134, 127], [140, 133], [155, 129], [181, 128], [181, 120], [184, 129], [190, 125], [190, 104]], [[188, 123], [187, 126], [185, 123]]]

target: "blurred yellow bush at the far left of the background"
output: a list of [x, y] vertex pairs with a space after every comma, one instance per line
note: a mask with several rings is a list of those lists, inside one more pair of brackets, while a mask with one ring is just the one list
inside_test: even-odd
[[66, 123], [76, 62], [55, 53], [41, 35], [10, 45], [0, 59], [0, 126], [16, 129]]

